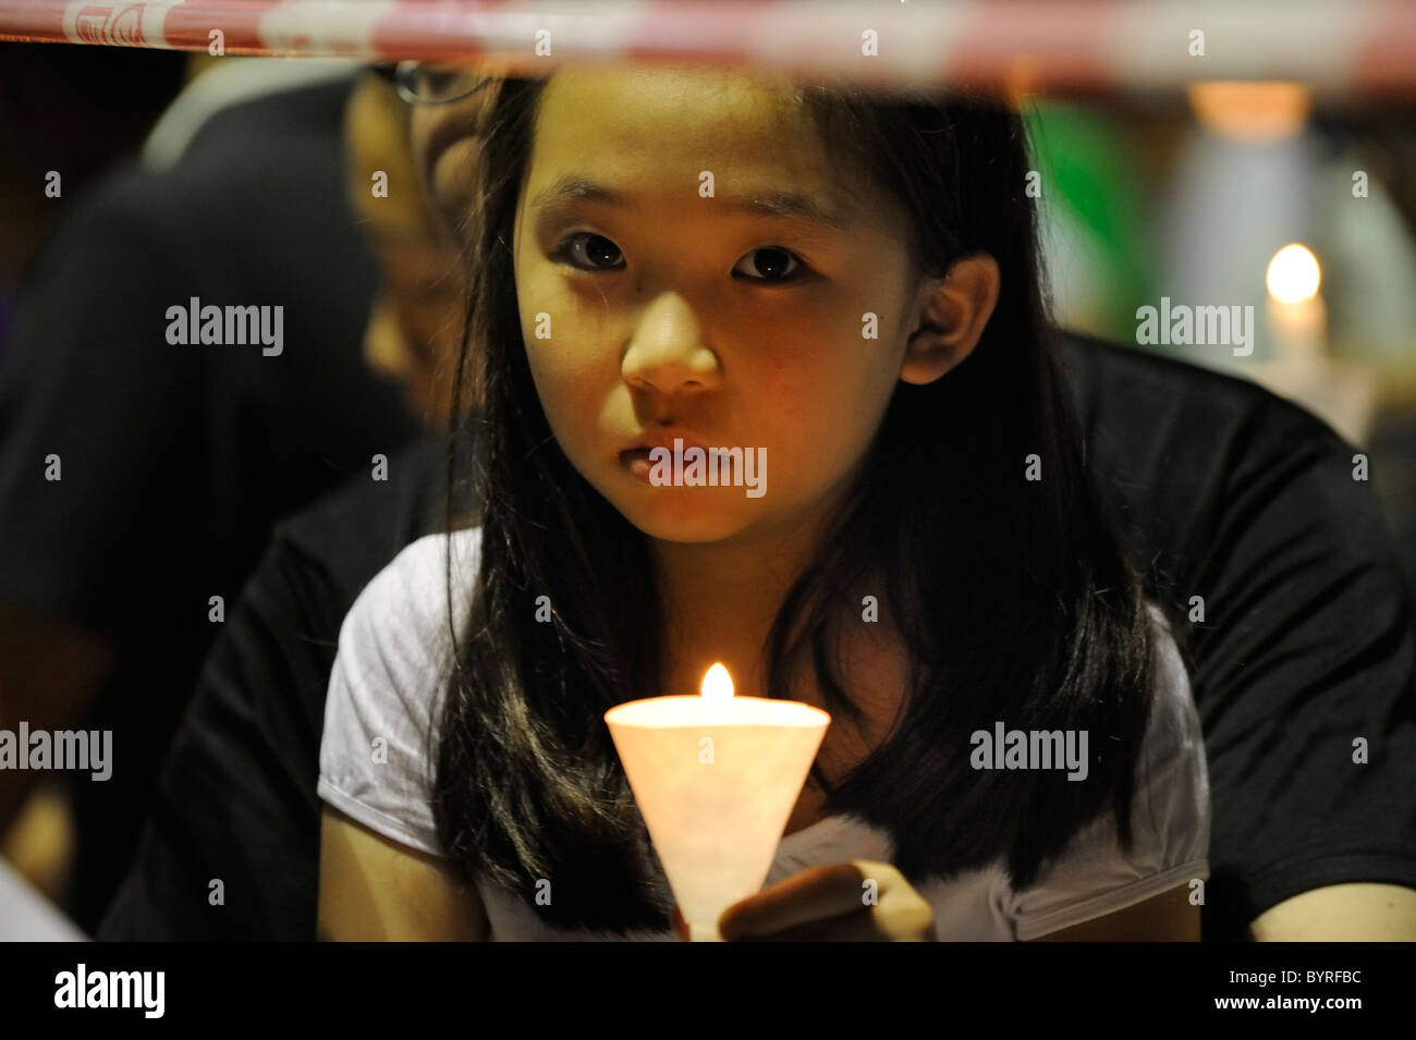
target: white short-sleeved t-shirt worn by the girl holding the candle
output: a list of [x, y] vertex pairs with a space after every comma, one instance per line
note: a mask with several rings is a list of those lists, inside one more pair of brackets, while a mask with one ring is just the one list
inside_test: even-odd
[[[459, 634], [480, 533], [469, 528], [452, 535]], [[429, 535], [405, 548], [354, 601], [340, 630], [320, 744], [320, 798], [377, 833], [433, 856], [443, 850], [428, 798], [425, 739], [440, 717], [452, 661], [447, 538]], [[1150, 610], [1158, 637], [1157, 695], [1137, 761], [1130, 852], [1121, 852], [1114, 814], [1104, 809], [1025, 890], [1012, 890], [1001, 859], [916, 886], [933, 907], [940, 940], [1032, 940], [1209, 877], [1209, 778], [1199, 717], [1174, 640], [1158, 608]], [[851, 859], [892, 862], [891, 835], [857, 816], [828, 816], [782, 839], [766, 884]], [[654, 873], [661, 880], [661, 872]], [[677, 941], [671, 931], [555, 930], [528, 900], [480, 877], [477, 890], [493, 940]]]

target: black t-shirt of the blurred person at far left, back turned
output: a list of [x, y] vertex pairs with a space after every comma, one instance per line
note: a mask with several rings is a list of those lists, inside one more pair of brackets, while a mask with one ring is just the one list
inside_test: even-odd
[[[25, 286], [0, 382], [0, 601], [119, 647], [84, 722], [113, 732], [112, 778], [64, 777], [91, 930], [221, 631], [210, 599], [229, 620], [275, 521], [416, 436], [364, 361], [377, 267], [346, 204], [350, 86], [232, 105], [170, 170], [116, 171], [75, 200]], [[280, 352], [170, 344], [167, 310], [191, 297], [280, 306]]]

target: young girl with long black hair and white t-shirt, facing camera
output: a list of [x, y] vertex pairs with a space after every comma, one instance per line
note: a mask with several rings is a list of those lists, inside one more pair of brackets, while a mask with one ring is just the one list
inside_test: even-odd
[[[483, 507], [344, 621], [321, 935], [673, 938], [603, 715], [722, 661], [833, 716], [729, 937], [1198, 938], [1198, 719], [1083, 464], [1017, 115], [663, 67], [487, 103]], [[650, 480], [675, 437], [762, 492]]]

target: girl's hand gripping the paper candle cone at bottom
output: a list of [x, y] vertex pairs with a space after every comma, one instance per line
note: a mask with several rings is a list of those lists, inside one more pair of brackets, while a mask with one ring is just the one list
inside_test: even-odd
[[[674, 932], [688, 925], [674, 906]], [[733, 903], [718, 918], [729, 942], [933, 942], [935, 911], [889, 863], [811, 867]]]

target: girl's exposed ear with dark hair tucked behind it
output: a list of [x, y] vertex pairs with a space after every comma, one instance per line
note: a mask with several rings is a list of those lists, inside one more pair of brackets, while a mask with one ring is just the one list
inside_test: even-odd
[[923, 386], [967, 358], [983, 338], [1000, 284], [998, 262], [988, 253], [956, 260], [943, 280], [929, 282], [920, 290], [899, 378]]

